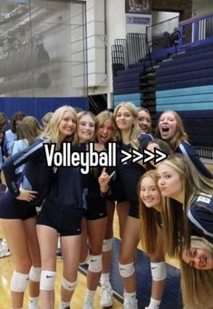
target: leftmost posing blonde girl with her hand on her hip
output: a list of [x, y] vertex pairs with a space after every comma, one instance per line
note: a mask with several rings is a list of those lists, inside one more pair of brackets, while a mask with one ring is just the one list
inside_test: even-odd
[[[50, 126], [27, 149], [5, 161], [3, 170], [8, 192], [0, 200], [0, 224], [14, 258], [11, 280], [12, 307], [22, 308], [24, 291], [29, 280], [28, 308], [38, 308], [41, 257], [36, 235], [36, 207], [41, 207], [54, 176], [54, 167], [47, 167], [45, 143], [55, 143], [60, 150], [64, 140], [73, 140], [76, 117], [73, 108], [63, 106], [54, 111]], [[15, 169], [24, 164], [21, 178]]]

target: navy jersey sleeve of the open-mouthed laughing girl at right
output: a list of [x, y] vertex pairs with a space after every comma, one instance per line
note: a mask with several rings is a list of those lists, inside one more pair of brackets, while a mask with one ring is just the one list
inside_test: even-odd
[[199, 159], [198, 153], [196, 152], [194, 147], [189, 144], [188, 141], [181, 141], [178, 149], [175, 150], [175, 152], [182, 153], [184, 156], [188, 157], [203, 176], [207, 177], [208, 179], [213, 179], [213, 175]]

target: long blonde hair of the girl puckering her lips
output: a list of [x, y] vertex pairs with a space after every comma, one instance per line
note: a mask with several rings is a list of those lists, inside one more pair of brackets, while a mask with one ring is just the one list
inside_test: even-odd
[[171, 155], [160, 164], [168, 164], [176, 169], [182, 182], [183, 205], [173, 198], [163, 198], [162, 211], [167, 253], [179, 257], [182, 247], [190, 246], [189, 207], [200, 192], [213, 193], [213, 180], [201, 175], [190, 159], [180, 154]]

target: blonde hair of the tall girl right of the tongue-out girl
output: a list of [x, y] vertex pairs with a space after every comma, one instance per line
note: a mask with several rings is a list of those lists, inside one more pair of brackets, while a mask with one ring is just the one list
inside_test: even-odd
[[[131, 115], [134, 118], [134, 124], [132, 125], [132, 128], [131, 128], [131, 147], [139, 149], [139, 146], [140, 146], [140, 141], [139, 141], [140, 126], [138, 124], [138, 109], [130, 101], [121, 102], [121, 104], [119, 104], [114, 111], [115, 123], [116, 123], [117, 113], [122, 106], [125, 107], [128, 111], [130, 111]], [[117, 126], [116, 126], [116, 131], [115, 131], [115, 140], [116, 141], [122, 141], [121, 131], [117, 128]]]

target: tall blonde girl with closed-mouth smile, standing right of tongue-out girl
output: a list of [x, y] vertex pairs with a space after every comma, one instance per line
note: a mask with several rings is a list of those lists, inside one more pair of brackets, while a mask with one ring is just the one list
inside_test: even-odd
[[[131, 102], [121, 102], [115, 111], [116, 141], [118, 144], [118, 164], [117, 172], [121, 178], [121, 183], [125, 191], [126, 199], [130, 202], [130, 211], [125, 221], [125, 227], [121, 238], [121, 252], [119, 269], [124, 283], [125, 309], [138, 308], [136, 297], [136, 274], [135, 274], [135, 254], [139, 243], [139, 200], [137, 195], [138, 182], [145, 168], [140, 162], [131, 164], [121, 164], [121, 150], [131, 152], [131, 149], [140, 150], [142, 140], [139, 139], [140, 128], [138, 125], [138, 110]], [[151, 140], [151, 138], [150, 138]]]

